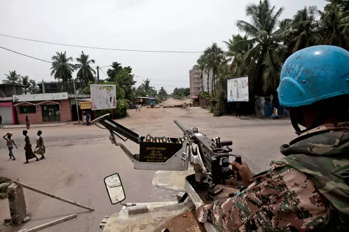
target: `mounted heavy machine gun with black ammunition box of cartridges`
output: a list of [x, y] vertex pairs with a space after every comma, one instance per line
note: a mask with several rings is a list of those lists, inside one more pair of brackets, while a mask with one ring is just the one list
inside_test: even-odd
[[[134, 162], [135, 169], [180, 171], [187, 170], [190, 163], [194, 167], [195, 181], [206, 182], [212, 187], [215, 184], [224, 184], [226, 179], [233, 177], [229, 156], [235, 156], [235, 161], [241, 164], [241, 157], [232, 154], [229, 147], [232, 141], [220, 141], [219, 137], [209, 139], [197, 128], [188, 130], [177, 120], [174, 123], [183, 131], [183, 137], [152, 137], [149, 134], [140, 137], [106, 117], [107, 115], [91, 123], [98, 122], [108, 129], [112, 144], [121, 147]], [[139, 154], [132, 154], [122, 143], [116, 141], [115, 136], [123, 141], [129, 139], [139, 144]], [[237, 180], [240, 180], [239, 175]]]

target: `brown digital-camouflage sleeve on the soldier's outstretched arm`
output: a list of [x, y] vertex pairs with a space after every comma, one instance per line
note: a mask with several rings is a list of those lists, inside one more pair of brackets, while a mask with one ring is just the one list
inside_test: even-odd
[[224, 232], [306, 231], [324, 219], [324, 202], [303, 173], [274, 162], [240, 195], [201, 205], [196, 214]]

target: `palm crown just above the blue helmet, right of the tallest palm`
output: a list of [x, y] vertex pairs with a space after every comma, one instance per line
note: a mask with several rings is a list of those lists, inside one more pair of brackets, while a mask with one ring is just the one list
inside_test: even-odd
[[283, 21], [286, 25], [283, 25], [280, 35], [286, 38], [286, 45], [292, 53], [321, 43], [322, 36], [317, 32], [317, 12], [317, 6], [309, 6], [309, 8], [305, 6], [297, 11], [289, 24]]

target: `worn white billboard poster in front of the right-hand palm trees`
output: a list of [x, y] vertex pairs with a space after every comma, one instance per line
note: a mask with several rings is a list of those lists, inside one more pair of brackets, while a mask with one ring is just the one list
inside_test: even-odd
[[248, 77], [237, 77], [227, 81], [227, 99], [232, 101], [248, 101]]

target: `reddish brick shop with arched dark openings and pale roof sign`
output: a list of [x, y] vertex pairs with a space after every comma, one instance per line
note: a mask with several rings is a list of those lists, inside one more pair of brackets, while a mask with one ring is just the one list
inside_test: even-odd
[[68, 122], [71, 121], [68, 93], [41, 93], [13, 95], [13, 106], [17, 112], [19, 124]]

